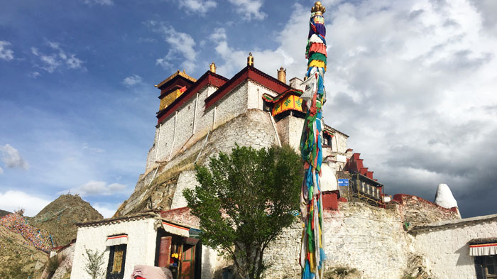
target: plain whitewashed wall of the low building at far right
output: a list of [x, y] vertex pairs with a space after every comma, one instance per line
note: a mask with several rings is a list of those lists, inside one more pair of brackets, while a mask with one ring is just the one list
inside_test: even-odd
[[476, 278], [474, 257], [469, 256], [471, 239], [495, 238], [497, 214], [442, 221], [410, 231], [414, 248], [427, 259], [435, 278]]

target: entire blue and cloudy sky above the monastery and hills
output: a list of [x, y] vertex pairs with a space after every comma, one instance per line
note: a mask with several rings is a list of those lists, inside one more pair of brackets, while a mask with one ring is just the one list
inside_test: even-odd
[[[322, 1], [324, 121], [389, 195], [463, 217], [497, 213], [497, 1]], [[104, 217], [131, 195], [153, 144], [158, 84], [210, 62], [231, 78], [253, 53], [305, 74], [299, 0], [2, 0], [0, 209], [33, 216], [79, 194]]]

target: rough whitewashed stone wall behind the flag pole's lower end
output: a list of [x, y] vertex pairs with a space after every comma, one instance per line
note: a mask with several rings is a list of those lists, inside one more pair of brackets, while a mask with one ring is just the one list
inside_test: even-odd
[[[266, 251], [273, 263], [271, 278], [299, 278], [302, 224], [285, 229]], [[411, 237], [405, 234], [398, 209], [360, 202], [341, 202], [339, 211], [324, 211], [325, 270], [357, 268], [363, 278], [401, 278], [408, 263]]]

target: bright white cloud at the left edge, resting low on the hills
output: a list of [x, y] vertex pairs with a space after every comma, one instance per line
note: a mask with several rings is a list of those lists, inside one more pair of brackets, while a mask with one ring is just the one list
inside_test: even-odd
[[25, 209], [24, 215], [33, 217], [38, 214], [43, 207], [51, 201], [28, 195], [25, 192], [9, 190], [4, 193], [0, 192], [0, 209], [14, 212], [18, 209]]

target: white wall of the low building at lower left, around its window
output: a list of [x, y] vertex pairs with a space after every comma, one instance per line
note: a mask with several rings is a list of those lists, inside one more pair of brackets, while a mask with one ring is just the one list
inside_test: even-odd
[[124, 278], [131, 278], [135, 265], [144, 264], [153, 266], [155, 261], [155, 241], [157, 233], [153, 227], [153, 218], [133, 221], [121, 221], [116, 224], [100, 224], [98, 226], [84, 226], [77, 230], [75, 255], [72, 263], [71, 278], [87, 279], [89, 275], [84, 271], [87, 260], [84, 257], [85, 248], [93, 251], [104, 251], [104, 269], [107, 272], [110, 247], [106, 246], [107, 236], [114, 234], [128, 234], [126, 247], [126, 263]]

